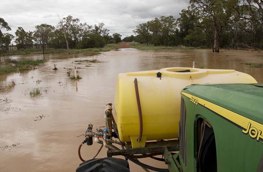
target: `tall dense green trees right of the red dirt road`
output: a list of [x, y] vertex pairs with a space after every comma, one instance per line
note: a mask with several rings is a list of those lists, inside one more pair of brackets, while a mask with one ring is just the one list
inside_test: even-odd
[[137, 41], [154, 46], [263, 48], [263, 0], [190, 0], [180, 18], [162, 16], [137, 25]]

